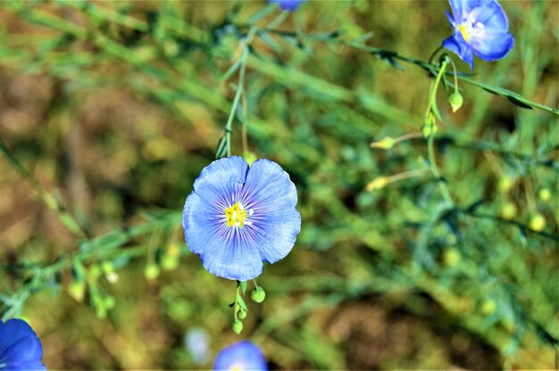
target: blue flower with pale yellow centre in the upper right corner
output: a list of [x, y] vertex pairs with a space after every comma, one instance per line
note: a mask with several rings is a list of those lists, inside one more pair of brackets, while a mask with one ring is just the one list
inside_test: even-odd
[[496, 0], [449, 0], [454, 14], [446, 12], [453, 35], [443, 46], [458, 54], [473, 70], [473, 54], [485, 61], [505, 58], [514, 45], [506, 14]]

